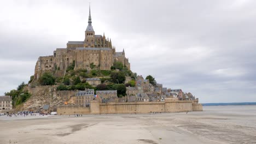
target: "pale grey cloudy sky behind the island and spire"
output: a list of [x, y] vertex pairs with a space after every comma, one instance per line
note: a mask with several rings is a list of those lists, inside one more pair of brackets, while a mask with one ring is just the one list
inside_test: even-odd
[[[96, 34], [132, 71], [201, 103], [256, 101], [256, 1], [90, 1]], [[0, 95], [27, 82], [39, 56], [84, 40], [89, 1], [0, 1]]]

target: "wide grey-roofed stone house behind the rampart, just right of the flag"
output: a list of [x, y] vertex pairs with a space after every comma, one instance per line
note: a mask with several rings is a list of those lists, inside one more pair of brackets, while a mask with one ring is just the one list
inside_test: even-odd
[[97, 98], [100, 98], [102, 102], [115, 99], [117, 97], [117, 90], [114, 91], [96, 91]]

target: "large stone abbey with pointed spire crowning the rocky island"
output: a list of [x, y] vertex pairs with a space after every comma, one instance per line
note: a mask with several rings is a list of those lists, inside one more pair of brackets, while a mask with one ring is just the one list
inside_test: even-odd
[[34, 73], [35, 78], [38, 79], [45, 71], [58, 70], [59, 75], [63, 75], [72, 64], [75, 70], [90, 70], [92, 65], [95, 69], [110, 70], [113, 63], [119, 61], [130, 69], [129, 59], [125, 57], [124, 49], [123, 52], [116, 52], [111, 39], [106, 39], [104, 34], [96, 35], [91, 23], [89, 7], [89, 20], [84, 41], [68, 41], [67, 47], [56, 49], [53, 56], [39, 57]]

